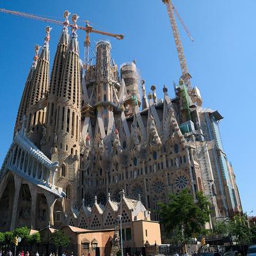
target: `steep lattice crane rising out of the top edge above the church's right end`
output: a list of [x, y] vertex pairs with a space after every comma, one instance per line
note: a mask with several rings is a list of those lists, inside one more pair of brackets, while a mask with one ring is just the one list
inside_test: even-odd
[[186, 28], [183, 20], [180, 18], [179, 13], [174, 8], [174, 6], [172, 4], [172, 1], [171, 0], [162, 0], [162, 1], [163, 1], [164, 4], [166, 4], [167, 12], [168, 12], [169, 19], [170, 19], [170, 22], [171, 22], [174, 41], [175, 41], [175, 45], [176, 45], [178, 56], [179, 56], [180, 68], [182, 70], [182, 79], [184, 80], [184, 83], [186, 84], [188, 90], [190, 90], [191, 89], [191, 82], [190, 82], [191, 76], [188, 72], [188, 67], [187, 67], [187, 63], [186, 63], [186, 60], [185, 60], [184, 51], [183, 51], [183, 47], [182, 47], [182, 44], [181, 44], [180, 35], [179, 35], [179, 31], [178, 31], [178, 28], [177, 28], [177, 24], [176, 24], [176, 20], [175, 20], [173, 11], [176, 13], [178, 19], [180, 20], [180, 23], [184, 27], [184, 29], [185, 29], [186, 33], [188, 34], [190, 40], [192, 42], [194, 40], [193, 40], [193, 37], [191, 36], [191, 34], [189, 33], [188, 28]]

